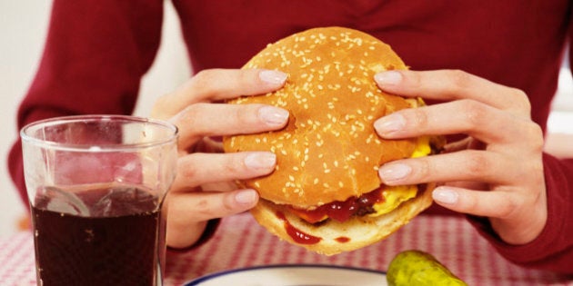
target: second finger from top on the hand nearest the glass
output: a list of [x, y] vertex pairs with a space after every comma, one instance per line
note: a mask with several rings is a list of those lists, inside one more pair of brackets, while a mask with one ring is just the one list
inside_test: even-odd
[[205, 136], [260, 133], [284, 127], [288, 111], [263, 104], [192, 104], [171, 123], [179, 128], [181, 148]]

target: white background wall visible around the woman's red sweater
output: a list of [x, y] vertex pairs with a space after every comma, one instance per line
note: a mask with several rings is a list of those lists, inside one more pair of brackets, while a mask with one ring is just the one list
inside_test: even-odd
[[[136, 114], [149, 113], [155, 98], [173, 90], [188, 78], [185, 47], [173, 7], [166, 1], [164, 34], [156, 63], [146, 75]], [[0, 1], [0, 237], [16, 232], [16, 222], [25, 213], [6, 168], [6, 155], [17, 136], [17, 105], [32, 80], [42, 53], [51, 1]], [[562, 74], [556, 113], [550, 118], [551, 148], [573, 149], [573, 84]], [[557, 138], [558, 140], [553, 140]], [[570, 152], [573, 153], [573, 152]]]

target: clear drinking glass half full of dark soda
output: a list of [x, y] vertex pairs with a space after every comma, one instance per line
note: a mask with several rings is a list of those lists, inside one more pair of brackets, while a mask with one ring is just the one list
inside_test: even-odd
[[21, 133], [38, 285], [162, 285], [177, 129], [123, 115]]

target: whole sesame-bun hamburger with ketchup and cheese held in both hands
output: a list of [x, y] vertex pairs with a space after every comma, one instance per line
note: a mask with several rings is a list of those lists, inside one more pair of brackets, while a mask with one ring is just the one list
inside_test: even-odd
[[284, 108], [286, 127], [223, 139], [227, 153], [276, 154], [273, 173], [238, 182], [259, 192], [251, 213], [269, 232], [332, 255], [383, 240], [432, 203], [434, 184], [386, 186], [377, 174], [384, 163], [426, 156], [439, 145], [427, 136], [377, 136], [377, 118], [423, 104], [374, 82], [379, 72], [407, 69], [388, 44], [353, 29], [314, 28], [268, 44], [243, 68], [288, 74], [276, 92], [228, 102]]

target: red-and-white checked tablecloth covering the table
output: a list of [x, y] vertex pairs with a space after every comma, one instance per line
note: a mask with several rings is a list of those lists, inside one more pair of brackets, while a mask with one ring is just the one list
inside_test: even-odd
[[[421, 215], [383, 242], [358, 251], [324, 256], [278, 240], [248, 213], [221, 222], [213, 239], [186, 253], [169, 253], [165, 285], [237, 268], [274, 264], [328, 264], [386, 271], [399, 251], [427, 251], [468, 285], [573, 285], [573, 277], [511, 264], [463, 217]], [[0, 284], [35, 285], [30, 232], [0, 239]], [[348, 281], [348, 285], [353, 285]]]

